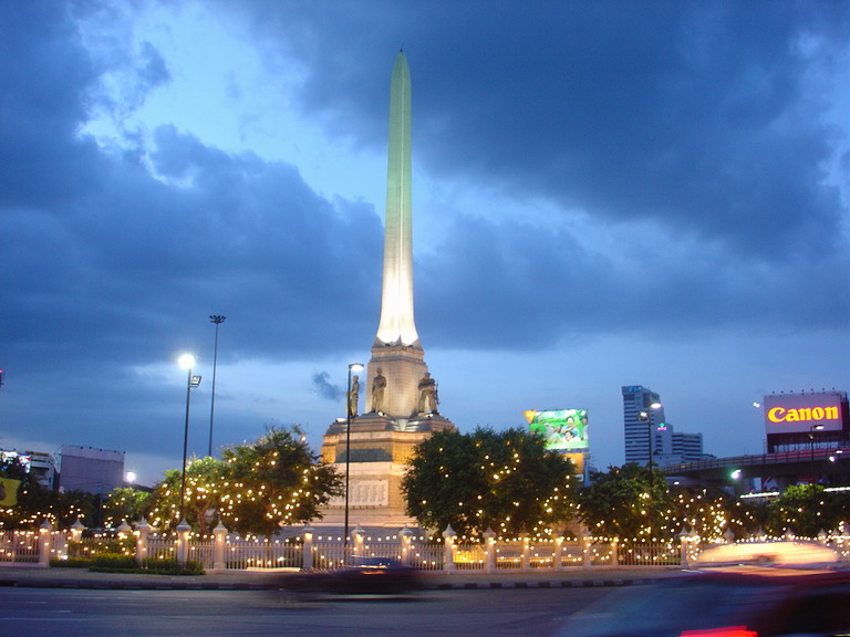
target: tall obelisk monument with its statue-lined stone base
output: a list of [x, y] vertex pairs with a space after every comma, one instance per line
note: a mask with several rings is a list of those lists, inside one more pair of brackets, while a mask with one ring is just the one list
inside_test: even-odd
[[[359, 389], [361, 384], [366, 400], [363, 413], [357, 414], [354, 387]], [[412, 524], [401, 492], [407, 460], [416, 445], [454, 425], [439, 414], [437, 382], [425, 364], [413, 313], [411, 72], [403, 51], [395, 58], [390, 86], [381, 320], [365, 377], [353, 378], [346, 404], [350, 437], [346, 418], [333, 422], [322, 440], [322, 458], [336, 463], [341, 472], [348, 459], [352, 522]], [[324, 511], [324, 522], [342, 520], [343, 507], [343, 498], [334, 499]]]

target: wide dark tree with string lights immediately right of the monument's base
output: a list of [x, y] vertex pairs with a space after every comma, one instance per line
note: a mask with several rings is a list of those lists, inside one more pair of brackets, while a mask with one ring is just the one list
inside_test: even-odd
[[438, 431], [416, 447], [402, 481], [419, 524], [462, 539], [550, 534], [570, 518], [574, 466], [522, 429]]

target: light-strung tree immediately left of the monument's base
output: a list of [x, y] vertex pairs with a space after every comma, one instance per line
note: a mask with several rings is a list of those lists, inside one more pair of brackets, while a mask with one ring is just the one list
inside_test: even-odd
[[252, 445], [225, 449], [224, 460], [219, 512], [242, 535], [309, 522], [342, 494], [342, 477], [310, 450], [298, 427], [269, 427]]

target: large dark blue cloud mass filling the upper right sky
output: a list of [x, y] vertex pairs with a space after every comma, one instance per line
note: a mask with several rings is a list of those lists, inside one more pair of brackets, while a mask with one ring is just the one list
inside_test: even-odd
[[404, 45], [417, 159], [438, 177], [773, 262], [841, 228], [846, 203], [825, 182], [838, 133], [826, 111], [848, 80], [840, 3], [366, 7], [332, 24], [315, 4], [247, 9], [307, 61], [304, 112], [341, 136], [383, 143], [379, 71]]

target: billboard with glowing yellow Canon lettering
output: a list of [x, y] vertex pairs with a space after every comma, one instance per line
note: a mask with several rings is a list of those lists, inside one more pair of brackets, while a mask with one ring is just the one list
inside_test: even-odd
[[765, 428], [768, 434], [808, 434], [844, 428], [841, 391], [765, 396]]

